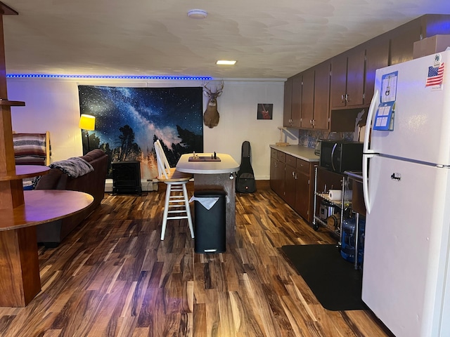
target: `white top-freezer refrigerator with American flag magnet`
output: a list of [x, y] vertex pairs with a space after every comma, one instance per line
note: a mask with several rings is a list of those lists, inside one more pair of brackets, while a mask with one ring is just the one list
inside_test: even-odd
[[377, 70], [362, 300], [397, 337], [450, 336], [450, 51]]

